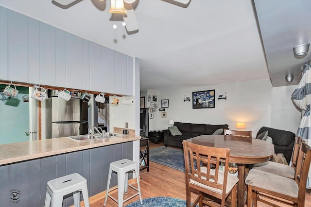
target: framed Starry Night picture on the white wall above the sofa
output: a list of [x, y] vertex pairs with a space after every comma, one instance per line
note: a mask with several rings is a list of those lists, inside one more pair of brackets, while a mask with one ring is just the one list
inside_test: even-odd
[[215, 90], [192, 92], [192, 109], [215, 108]]

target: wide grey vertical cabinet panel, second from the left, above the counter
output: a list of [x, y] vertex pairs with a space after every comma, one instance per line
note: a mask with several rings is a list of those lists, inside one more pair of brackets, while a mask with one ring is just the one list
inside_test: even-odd
[[8, 78], [28, 81], [28, 17], [8, 10]]

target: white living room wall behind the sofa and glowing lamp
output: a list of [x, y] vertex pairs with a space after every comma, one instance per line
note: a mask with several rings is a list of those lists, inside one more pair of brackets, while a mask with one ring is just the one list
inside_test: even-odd
[[[272, 87], [269, 79], [243, 81], [202, 87], [158, 92], [158, 100], [169, 99], [165, 108], [167, 118], [161, 118], [161, 111], [155, 112], [157, 122], [151, 122], [151, 130], [168, 128], [170, 119], [179, 122], [228, 124], [236, 129], [236, 122], [244, 122], [245, 130], [252, 130], [256, 136], [260, 127], [273, 127], [296, 133], [300, 122], [298, 111], [291, 100], [296, 86]], [[192, 109], [192, 92], [215, 89], [215, 109]], [[218, 100], [227, 93], [227, 100]], [[184, 96], [191, 101], [184, 102]], [[159, 107], [158, 107], [159, 108]]]

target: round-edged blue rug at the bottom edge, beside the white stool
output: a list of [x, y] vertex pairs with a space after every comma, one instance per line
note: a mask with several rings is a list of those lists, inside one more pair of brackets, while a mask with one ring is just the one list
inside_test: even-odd
[[[125, 207], [185, 207], [186, 201], [179, 198], [172, 197], [152, 197], [142, 199], [142, 204], [140, 201], [135, 201]], [[198, 207], [198, 206], [196, 206]]]

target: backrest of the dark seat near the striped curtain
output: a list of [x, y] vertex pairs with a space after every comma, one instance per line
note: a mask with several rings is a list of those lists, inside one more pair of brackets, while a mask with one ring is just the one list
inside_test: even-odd
[[261, 127], [257, 135], [267, 130], [269, 131], [268, 136], [273, 139], [274, 144], [280, 146], [290, 146], [291, 144], [294, 144], [295, 134], [291, 131], [285, 131], [269, 127]]

